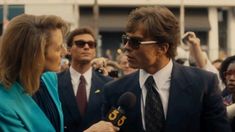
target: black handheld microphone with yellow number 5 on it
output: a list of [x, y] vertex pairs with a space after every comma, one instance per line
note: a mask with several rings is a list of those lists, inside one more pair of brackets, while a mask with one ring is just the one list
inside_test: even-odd
[[118, 108], [112, 107], [106, 120], [111, 122], [114, 126], [123, 126], [127, 119], [126, 111], [132, 109], [135, 104], [136, 96], [132, 92], [125, 92], [118, 99]]

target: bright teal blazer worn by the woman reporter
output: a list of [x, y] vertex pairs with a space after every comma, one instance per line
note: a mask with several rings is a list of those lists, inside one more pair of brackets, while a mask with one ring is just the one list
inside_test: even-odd
[[[63, 114], [58, 96], [57, 76], [46, 72], [42, 79], [47, 86], [60, 116], [61, 132], [63, 132]], [[54, 132], [49, 119], [34, 102], [33, 98], [24, 92], [19, 83], [14, 83], [10, 89], [0, 84], [0, 131], [1, 132]]]

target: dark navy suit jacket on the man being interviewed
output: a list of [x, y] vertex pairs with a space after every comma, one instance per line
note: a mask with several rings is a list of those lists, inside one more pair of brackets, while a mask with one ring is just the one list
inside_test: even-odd
[[[137, 103], [126, 112], [122, 132], [142, 132], [139, 72], [104, 87], [104, 114], [116, 106], [125, 92], [133, 92]], [[173, 64], [165, 132], [230, 132], [216, 75], [196, 68]]]

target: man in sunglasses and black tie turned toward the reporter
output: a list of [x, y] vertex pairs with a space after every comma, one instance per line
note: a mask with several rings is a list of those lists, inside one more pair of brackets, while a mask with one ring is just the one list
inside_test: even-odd
[[174, 62], [179, 23], [170, 10], [133, 10], [122, 40], [129, 65], [140, 70], [104, 87], [104, 115], [123, 93], [137, 97], [121, 132], [231, 131], [216, 75]]

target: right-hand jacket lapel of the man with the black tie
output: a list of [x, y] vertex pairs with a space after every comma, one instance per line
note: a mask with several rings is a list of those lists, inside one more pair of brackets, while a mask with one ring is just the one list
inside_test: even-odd
[[[173, 63], [171, 74], [171, 84], [169, 91], [168, 110], [166, 118], [166, 131], [174, 130], [175, 127], [183, 127], [181, 125], [187, 123], [189, 119], [188, 111], [193, 107], [192, 104], [192, 87], [191, 81], [188, 80], [182, 70], [182, 66]], [[184, 123], [182, 123], [184, 122]]]

